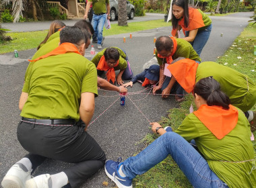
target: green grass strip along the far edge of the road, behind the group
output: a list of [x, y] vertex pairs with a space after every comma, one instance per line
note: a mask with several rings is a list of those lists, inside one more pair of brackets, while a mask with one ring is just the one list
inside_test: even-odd
[[[171, 26], [170, 22], [166, 23], [163, 19], [152, 20], [152, 21], [141, 21], [129, 23], [128, 26], [117, 26], [117, 23], [112, 24], [109, 30], [104, 28], [104, 36], [116, 35], [137, 32], [141, 30], [150, 30], [154, 28]], [[48, 30], [38, 32], [20, 32], [20, 33], [7, 33], [6, 35], [11, 36], [13, 40], [0, 43], [0, 54], [13, 52], [13, 50], [28, 50], [36, 48], [47, 35]]]

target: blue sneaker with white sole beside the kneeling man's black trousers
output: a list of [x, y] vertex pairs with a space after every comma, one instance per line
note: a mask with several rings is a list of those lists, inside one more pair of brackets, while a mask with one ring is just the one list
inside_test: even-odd
[[114, 160], [106, 160], [105, 173], [112, 181], [115, 182], [117, 187], [132, 188], [132, 179], [129, 179], [129, 177], [121, 177], [121, 175], [119, 175], [119, 167], [121, 167], [121, 165], [123, 164], [121, 160], [119, 161], [118, 159], [117, 162], [115, 162]]

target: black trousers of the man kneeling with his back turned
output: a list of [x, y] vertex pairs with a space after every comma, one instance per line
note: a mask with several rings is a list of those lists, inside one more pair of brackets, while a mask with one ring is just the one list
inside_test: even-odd
[[46, 126], [20, 122], [17, 136], [22, 147], [30, 152], [25, 157], [36, 169], [46, 158], [75, 163], [63, 170], [71, 187], [79, 186], [104, 166], [106, 156], [98, 143], [84, 131], [84, 124]]

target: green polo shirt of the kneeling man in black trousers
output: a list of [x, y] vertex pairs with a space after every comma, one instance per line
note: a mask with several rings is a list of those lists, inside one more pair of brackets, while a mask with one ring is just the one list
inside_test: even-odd
[[30, 62], [22, 89], [28, 93], [24, 118], [79, 120], [81, 93], [98, 95], [94, 64], [76, 53]]

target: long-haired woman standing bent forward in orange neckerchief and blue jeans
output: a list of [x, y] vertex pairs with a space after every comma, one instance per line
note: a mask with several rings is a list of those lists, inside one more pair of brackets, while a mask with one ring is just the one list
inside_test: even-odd
[[172, 36], [179, 27], [183, 29], [185, 40], [190, 42], [200, 56], [203, 46], [210, 37], [212, 20], [200, 9], [189, 7], [187, 0], [172, 1]]

